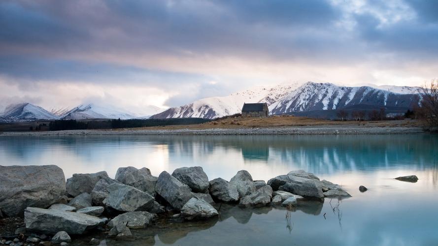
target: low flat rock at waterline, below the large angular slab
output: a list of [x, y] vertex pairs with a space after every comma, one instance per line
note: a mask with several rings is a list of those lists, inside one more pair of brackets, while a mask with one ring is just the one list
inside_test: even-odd
[[155, 215], [148, 212], [130, 212], [118, 215], [108, 222], [108, 226], [114, 227], [116, 224], [122, 223], [130, 229], [146, 228], [152, 223]]

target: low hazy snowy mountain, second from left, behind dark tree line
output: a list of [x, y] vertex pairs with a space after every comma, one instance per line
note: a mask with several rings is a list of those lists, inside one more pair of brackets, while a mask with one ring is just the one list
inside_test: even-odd
[[101, 107], [94, 104], [79, 105], [66, 112], [62, 119], [66, 120], [86, 120], [86, 119], [133, 119], [131, 113], [122, 112], [115, 108]]

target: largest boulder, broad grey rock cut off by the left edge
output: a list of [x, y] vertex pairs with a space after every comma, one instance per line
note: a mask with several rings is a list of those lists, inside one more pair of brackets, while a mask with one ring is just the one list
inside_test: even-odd
[[55, 165], [0, 166], [0, 208], [23, 216], [27, 207], [48, 208], [66, 192], [64, 172]]

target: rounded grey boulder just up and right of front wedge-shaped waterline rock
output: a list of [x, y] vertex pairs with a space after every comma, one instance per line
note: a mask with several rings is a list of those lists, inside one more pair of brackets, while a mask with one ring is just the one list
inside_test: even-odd
[[236, 185], [231, 185], [222, 178], [210, 181], [210, 194], [213, 198], [222, 202], [236, 202], [239, 200]]

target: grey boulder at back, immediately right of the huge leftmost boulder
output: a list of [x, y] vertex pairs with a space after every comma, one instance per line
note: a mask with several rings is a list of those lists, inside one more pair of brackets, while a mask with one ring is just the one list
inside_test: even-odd
[[91, 193], [96, 183], [102, 178], [108, 178], [105, 171], [98, 173], [75, 173], [67, 179], [67, 193], [75, 197], [82, 193]]

